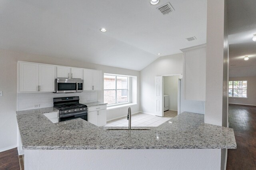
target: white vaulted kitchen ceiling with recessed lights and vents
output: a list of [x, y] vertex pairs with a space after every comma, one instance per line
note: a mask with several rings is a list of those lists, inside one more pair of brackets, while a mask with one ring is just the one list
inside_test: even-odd
[[[167, 2], [174, 11], [163, 15], [157, 7]], [[206, 0], [1, 0], [0, 49], [142, 70], [206, 43], [206, 8]]]

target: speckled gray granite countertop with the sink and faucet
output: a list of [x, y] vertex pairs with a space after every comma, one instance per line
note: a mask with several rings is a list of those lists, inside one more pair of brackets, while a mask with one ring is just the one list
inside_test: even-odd
[[[149, 131], [108, 131], [83, 119], [52, 123], [42, 113], [18, 115], [23, 149], [235, 149], [234, 131], [182, 113]], [[171, 122], [171, 123], [170, 123]]]

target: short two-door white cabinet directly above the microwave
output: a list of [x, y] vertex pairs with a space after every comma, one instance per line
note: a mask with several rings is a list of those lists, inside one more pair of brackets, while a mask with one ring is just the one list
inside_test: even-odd
[[82, 68], [57, 66], [58, 78], [80, 78], [82, 79]]

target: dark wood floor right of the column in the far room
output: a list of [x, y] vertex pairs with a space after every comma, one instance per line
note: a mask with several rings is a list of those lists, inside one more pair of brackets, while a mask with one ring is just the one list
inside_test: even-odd
[[256, 170], [256, 106], [229, 105], [237, 149], [228, 149], [227, 170]]

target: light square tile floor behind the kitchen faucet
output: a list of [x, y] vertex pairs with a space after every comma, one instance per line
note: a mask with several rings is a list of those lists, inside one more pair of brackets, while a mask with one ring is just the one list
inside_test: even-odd
[[[178, 115], [177, 111], [170, 111], [170, 110], [164, 112], [164, 117], [154, 116], [146, 113], [135, 113], [135, 114], [132, 114], [132, 127], [134, 126], [156, 127], [168, 121], [172, 117], [175, 117], [176, 115]], [[112, 126], [128, 127], [127, 116], [108, 121], [105, 126], [106, 127], [112, 127]]]

